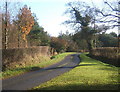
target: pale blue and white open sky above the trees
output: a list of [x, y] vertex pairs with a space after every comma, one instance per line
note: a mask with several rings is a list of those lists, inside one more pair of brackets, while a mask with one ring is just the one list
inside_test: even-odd
[[[62, 25], [61, 23], [69, 19], [69, 17], [64, 15], [65, 10], [67, 9], [65, 4], [75, 0], [9, 0], [9, 1], [11, 2], [24, 1], [23, 4], [26, 4], [28, 7], [31, 7], [31, 11], [36, 14], [39, 25], [42, 26], [44, 30], [47, 31], [51, 36], [58, 36], [61, 31], [63, 33], [65, 33], [67, 30], [69, 32], [74, 32], [74, 30], [69, 29], [69, 27]], [[91, 4], [91, 1], [93, 1], [97, 6], [104, 7], [104, 4], [101, 3], [103, 0], [86, 0], [86, 2], [89, 4]]]

